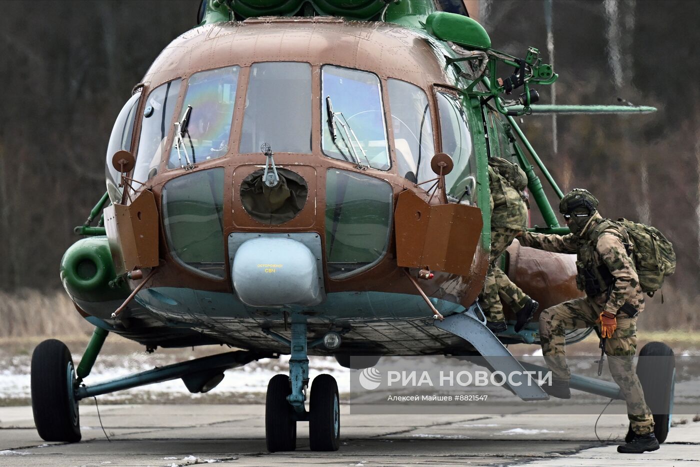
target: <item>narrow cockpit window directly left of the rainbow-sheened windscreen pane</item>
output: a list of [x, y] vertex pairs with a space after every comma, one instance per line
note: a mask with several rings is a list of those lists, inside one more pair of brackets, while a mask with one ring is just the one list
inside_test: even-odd
[[151, 91], [144, 107], [144, 119], [139, 137], [139, 155], [134, 168], [134, 180], [146, 182], [158, 172], [165, 142], [172, 133], [175, 104], [180, 93], [181, 79], [169, 81]]

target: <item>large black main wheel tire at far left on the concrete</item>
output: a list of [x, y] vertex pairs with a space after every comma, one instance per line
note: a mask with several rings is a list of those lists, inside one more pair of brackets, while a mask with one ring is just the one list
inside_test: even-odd
[[66, 344], [48, 339], [34, 348], [31, 356], [31, 410], [41, 439], [80, 441], [78, 402], [69, 392], [74, 381], [73, 359]]

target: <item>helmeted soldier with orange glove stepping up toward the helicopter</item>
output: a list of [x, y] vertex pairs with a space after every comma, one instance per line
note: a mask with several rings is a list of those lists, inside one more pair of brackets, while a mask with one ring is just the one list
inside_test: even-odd
[[561, 200], [559, 210], [571, 233], [565, 236], [525, 232], [522, 245], [540, 250], [576, 253], [577, 285], [586, 297], [569, 300], [542, 311], [540, 341], [542, 354], [552, 370], [552, 386], [545, 390], [557, 398], [570, 398], [570, 372], [566, 365], [566, 330], [601, 326], [606, 337], [605, 353], [613, 379], [627, 404], [635, 433], [618, 452], [641, 453], [659, 449], [654, 437], [654, 419], [633, 369], [637, 349], [637, 313], [644, 309], [644, 297], [625, 244], [624, 229], [598, 214], [598, 200], [584, 189], [574, 189]]

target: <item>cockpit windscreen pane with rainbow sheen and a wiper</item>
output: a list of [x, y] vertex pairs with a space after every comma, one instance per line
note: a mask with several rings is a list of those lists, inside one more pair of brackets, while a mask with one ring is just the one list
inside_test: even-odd
[[178, 117], [183, 123], [182, 140], [172, 144], [168, 168], [209, 161], [228, 152], [239, 70], [225, 67], [190, 76]]

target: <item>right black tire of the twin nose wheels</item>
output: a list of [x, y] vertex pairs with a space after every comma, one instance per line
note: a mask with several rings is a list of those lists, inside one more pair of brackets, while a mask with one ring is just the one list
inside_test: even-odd
[[340, 446], [338, 384], [330, 374], [319, 374], [311, 382], [309, 445], [311, 451], [337, 451]]

